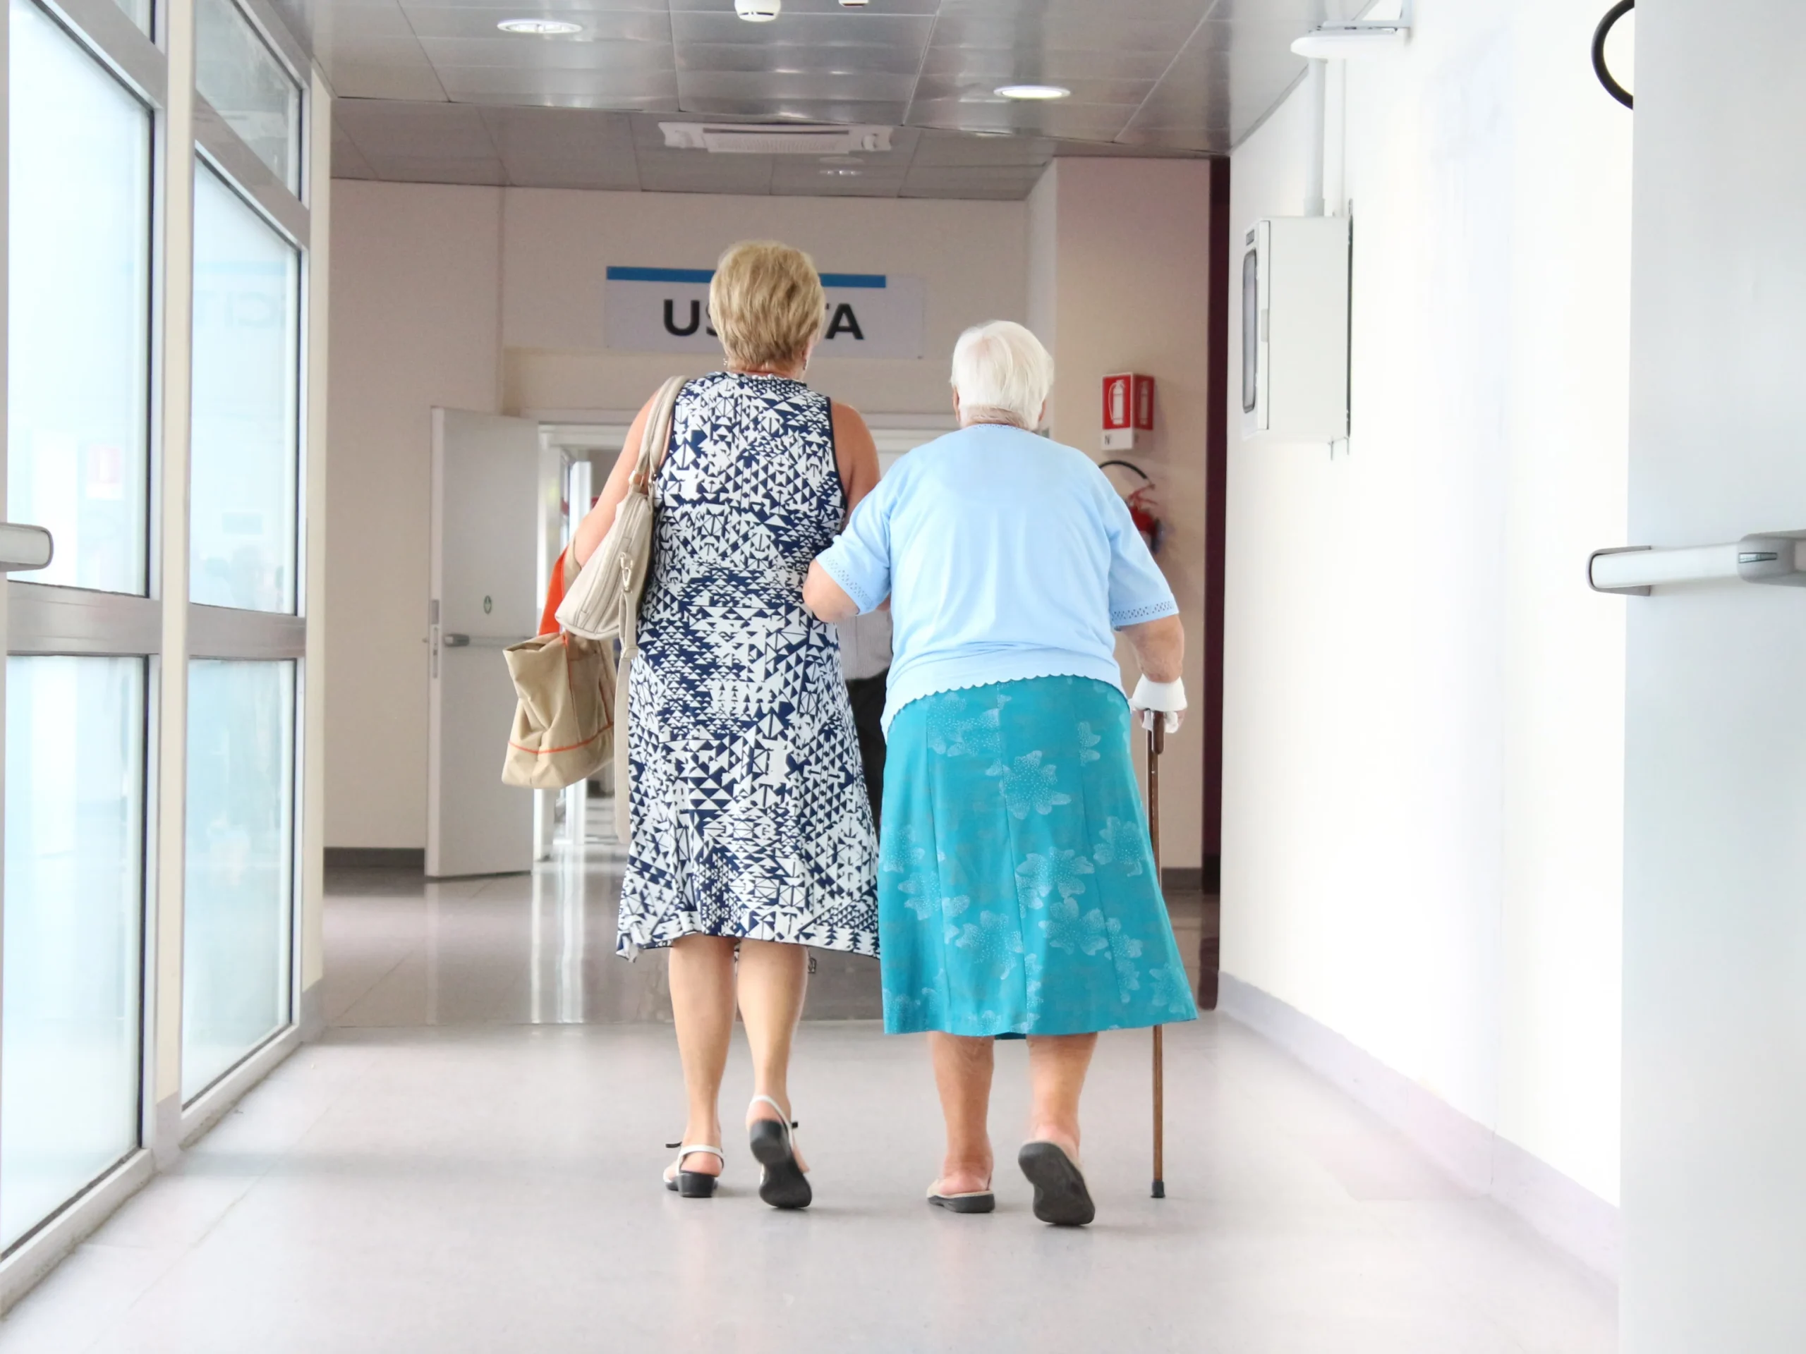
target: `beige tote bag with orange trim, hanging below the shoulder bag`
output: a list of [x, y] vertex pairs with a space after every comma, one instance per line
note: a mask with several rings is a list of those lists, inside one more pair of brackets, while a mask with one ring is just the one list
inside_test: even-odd
[[[567, 552], [567, 589], [574, 574]], [[614, 751], [614, 641], [558, 632], [509, 645], [502, 657], [517, 697], [502, 782], [563, 789], [601, 771]]]

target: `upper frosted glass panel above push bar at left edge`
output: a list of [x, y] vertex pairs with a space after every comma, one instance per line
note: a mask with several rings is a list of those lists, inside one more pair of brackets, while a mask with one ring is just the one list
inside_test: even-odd
[[150, 112], [9, 0], [7, 507], [56, 536], [33, 583], [144, 592]]

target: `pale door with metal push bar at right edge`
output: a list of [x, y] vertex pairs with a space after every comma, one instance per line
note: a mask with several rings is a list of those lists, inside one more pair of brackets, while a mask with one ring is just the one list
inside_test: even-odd
[[[1799, 20], [1638, 9], [1636, 545], [1806, 529]], [[1624, 1350], [1801, 1350], [1806, 589], [1625, 607]]]

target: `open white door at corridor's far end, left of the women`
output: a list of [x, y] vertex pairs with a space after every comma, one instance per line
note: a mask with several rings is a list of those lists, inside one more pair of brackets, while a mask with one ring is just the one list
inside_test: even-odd
[[533, 793], [502, 784], [502, 650], [540, 619], [540, 428], [433, 410], [426, 874], [531, 870]]

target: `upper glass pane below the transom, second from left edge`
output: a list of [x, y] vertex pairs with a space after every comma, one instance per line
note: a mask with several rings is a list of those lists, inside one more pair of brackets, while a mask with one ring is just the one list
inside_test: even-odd
[[195, 173], [188, 596], [294, 610], [302, 256], [211, 170]]

